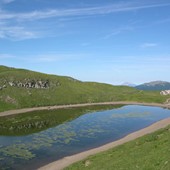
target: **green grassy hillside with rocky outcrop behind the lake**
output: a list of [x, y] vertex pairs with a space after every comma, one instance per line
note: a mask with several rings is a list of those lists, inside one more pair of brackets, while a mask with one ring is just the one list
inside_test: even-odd
[[163, 103], [166, 96], [127, 86], [82, 82], [71, 77], [0, 66], [0, 111], [37, 106], [139, 101]]

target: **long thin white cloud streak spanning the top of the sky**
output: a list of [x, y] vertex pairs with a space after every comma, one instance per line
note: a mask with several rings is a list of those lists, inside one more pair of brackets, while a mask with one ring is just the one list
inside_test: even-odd
[[[7, 0], [6, 0], [7, 1]], [[17, 19], [17, 20], [37, 20], [51, 17], [68, 17], [80, 15], [101, 15], [115, 12], [127, 12], [134, 10], [141, 10], [146, 8], [156, 8], [170, 6], [170, 3], [153, 3], [153, 4], [138, 4], [138, 3], [118, 3], [113, 5], [76, 8], [76, 9], [50, 9], [41, 11], [31, 11], [28, 13], [10, 13], [0, 11], [0, 19]]]

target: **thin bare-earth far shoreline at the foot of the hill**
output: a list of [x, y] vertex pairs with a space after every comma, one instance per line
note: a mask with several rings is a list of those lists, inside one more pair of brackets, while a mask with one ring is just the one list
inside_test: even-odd
[[100, 103], [82, 103], [82, 104], [68, 104], [68, 105], [55, 105], [55, 106], [41, 106], [41, 107], [8, 110], [8, 111], [0, 112], [0, 117], [27, 113], [27, 112], [32, 112], [32, 111], [39, 111], [39, 110], [55, 110], [55, 109], [76, 108], [76, 107], [84, 107], [84, 106], [117, 105], [117, 104], [144, 105], [144, 106], [157, 106], [157, 107], [163, 107], [163, 108], [170, 108], [170, 105], [168, 104], [159, 104], [159, 103], [142, 103], [142, 102], [126, 102], [126, 101], [100, 102]]

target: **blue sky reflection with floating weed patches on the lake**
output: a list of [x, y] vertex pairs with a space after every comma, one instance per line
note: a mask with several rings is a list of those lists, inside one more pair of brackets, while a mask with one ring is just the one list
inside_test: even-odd
[[5, 168], [6, 165], [12, 165], [14, 169], [27, 166], [29, 169], [30, 162], [33, 167], [39, 166], [42, 162], [97, 147], [166, 117], [170, 117], [170, 110], [129, 105], [84, 114], [70, 122], [28, 136], [1, 136], [0, 166]]

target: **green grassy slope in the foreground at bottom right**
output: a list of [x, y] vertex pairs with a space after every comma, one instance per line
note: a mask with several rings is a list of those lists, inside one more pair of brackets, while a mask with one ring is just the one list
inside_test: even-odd
[[106, 152], [90, 156], [66, 170], [169, 170], [169, 141], [170, 126]]

